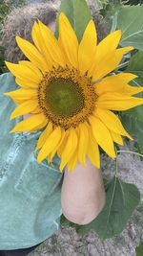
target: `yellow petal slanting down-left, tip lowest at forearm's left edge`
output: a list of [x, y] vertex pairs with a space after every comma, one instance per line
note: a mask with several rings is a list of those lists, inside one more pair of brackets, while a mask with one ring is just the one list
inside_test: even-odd
[[69, 136], [67, 138], [67, 143], [65, 145], [65, 148], [62, 152], [61, 156], [61, 164], [60, 164], [60, 171], [63, 171], [66, 164], [69, 162], [69, 160], [72, 158], [72, 154], [76, 150], [77, 147], [77, 135], [74, 128], [69, 129]]

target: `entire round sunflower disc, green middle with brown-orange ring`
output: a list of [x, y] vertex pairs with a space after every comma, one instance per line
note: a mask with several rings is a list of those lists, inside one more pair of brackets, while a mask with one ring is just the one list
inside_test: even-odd
[[92, 115], [97, 96], [86, 75], [68, 67], [52, 68], [38, 87], [38, 103], [55, 126], [76, 128]]

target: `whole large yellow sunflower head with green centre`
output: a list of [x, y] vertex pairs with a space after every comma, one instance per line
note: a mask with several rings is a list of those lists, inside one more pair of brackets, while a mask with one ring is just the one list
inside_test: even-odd
[[10, 132], [43, 128], [35, 149], [38, 163], [45, 158], [51, 163], [57, 153], [61, 158], [60, 171], [66, 165], [72, 171], [77, 161], [86, 167], [87, 156], [99, 168], [99, 147], [115, 158], [113, 143], [123, 145], [122, 136], [132, 139], [111, 110], [143, 104], [143, 99], [133, 97], [143, 87], [129, 84], [135, 75], [110, 74], [133, 47], [117, 49], [121, 31], [97, 44], [92, 20], [78, 43], [63, 12], [59, 15], [58, 40], [41, 21], [34, 23], [31, 35], [34, 45], [16, 36], [18, 46], [29, 60], [18, 64], [6, 61], [21, 86], [5, 93], [18, 105], [10, 120], [31, 113]]

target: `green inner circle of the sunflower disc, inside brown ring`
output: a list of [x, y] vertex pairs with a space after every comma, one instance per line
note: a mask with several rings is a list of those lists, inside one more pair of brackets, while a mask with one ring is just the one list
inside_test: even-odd
[[71, 79], [53, 79], [47, 86], [47, 104], [61, 116], [72, 116], [84, 107], [84, 95]]

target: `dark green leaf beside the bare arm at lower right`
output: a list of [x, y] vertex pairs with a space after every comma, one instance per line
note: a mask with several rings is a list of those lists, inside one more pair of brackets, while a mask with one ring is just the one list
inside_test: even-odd
[[140, 201], [140, 194], [133, 184], [124, 183], [114, 176], [106, 185], [106, 205], [98, 217], [88, 225], [78, 226], [78, 233], [84, 235], [94, 230], [102, 239], [120, 234], [133, 215]]

